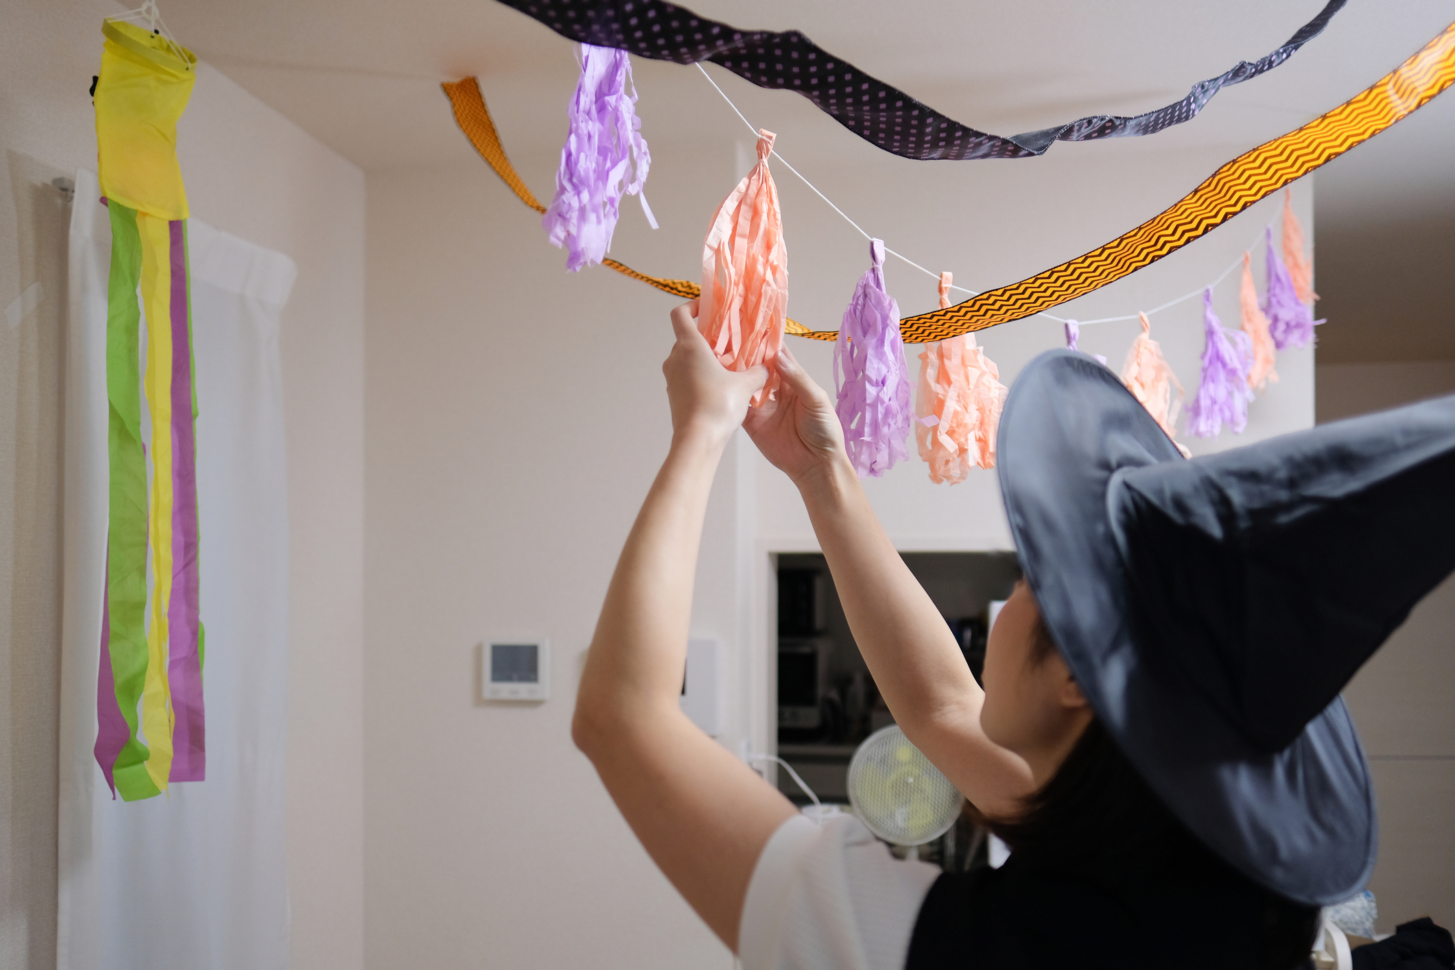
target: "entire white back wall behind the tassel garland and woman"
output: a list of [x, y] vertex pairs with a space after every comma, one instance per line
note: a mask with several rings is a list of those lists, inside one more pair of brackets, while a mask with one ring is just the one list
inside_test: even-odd
[[[623, 205], [613, 256], [649, 273], [700, 276], [709, 217], [752, 157], [730, 115], [720, 143], [677, 143], [646, 113], [682, 84], [675, 65], [637, 63], [652, 140], [647, 191], [662, 230]], [[694, 81], [701, 84], [700, 79]], [[706, 97], [716, 97], [706, 89]], [[1237, 148], [1147, 157], [1100, 143], [1058, 145], [1032, 163], [922, 164], [892, 159], [828, 125], [835, 148], [794, 154], [822, 121], [802, 99], [733, 86], [749, 118], [780, 132], [778, 150], [890, 247], [957, 282], [988, 288], [1100, 244], [1176, 201]], [[505, 145], [537, 196], [549, 198], [554, 150], [533, 150], [533, 125], [556, 118], [486, 97]], [[451, 119], [441, 100], [439, 124]], [[732, 121], [736, 125], [736, 121]], [[668, 132], [653, 138], [655, 132]], [[519, 134], [517, 141], [512, 135]], [[512, 145], [524, 145], [515, 150]], [[1135, 167], [1129, 159], [1136, 157]], [[867, 243], [776, 169], [789, 247], [789, 313], [835, 329], [867, 266]], [[365, 551], [367, 957], [380, 970], [435, 967], [726, 967], [728, 953], [656, 873], [569, 739], [581, 654], [617, 553], [668, 445], [661, 361], [671, 297], [595, 268], [563, 270], [540, 217], [473, 157], [368, 175], [368, 380]], [[1311, 236], [1308, 183], [1299, 214]], [[1065, 313], [1135, 313], [1219, 273], [1277, 211], [1270, 201], [1155, 268]], [[1261, 279], [1261, 260], [1259, 260]], [[934, 279], [890, 260], [905, 313], [928, 310]], [[1237, 278], [1216, 307], [1237, 326]], [[1058, 314], [1062, 311], [1058, 311]], [[1119, 369], [1135, 321], [1083, 330], [1084, 349]], [[1154, 336], [1196, 390], [1199, 301], [1154, 321]], [[1010, 382], [1035, 353], [1062, 345], [1059, 324], [1026, 321], [982, 336]], [[831, 345], [794, 352], [828, 384]], [[1307, 428], [1312, 352], [1285, 353], [1282, 381], [1228, 446]], [[933, 486], [915, 461], [869, 484], [905, 550], [1007, 548], [994, 473]], [[770, 554], [815, 550], [786, 480], [739, 436], [719, 471], [698, 569], [693, 631], [728, 644], [722, 742], [774, 743]], [[479, 643], [537, 631], [554, 644], [554, 695], [541, 705], [479, 700]], [[567, 929], [563, 931], [563, 926]]]

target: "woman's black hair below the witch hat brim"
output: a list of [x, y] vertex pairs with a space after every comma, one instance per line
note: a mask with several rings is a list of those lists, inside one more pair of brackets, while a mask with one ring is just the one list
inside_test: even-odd
[[[1037, 617], [1030, 662], [1056, 650]], [[1261, 970], [1304, 967], [1320, 909], [1295, 903], [1234, 871], [1163, 804], [1101, 721], [1091, 718], [1056, 774], [1032, 793], [1013, 819], [982, 819], [1011, 846], [1017, 865], [1061, 871], [1113, 871], [1117, 878], [1180, 878], [1232, 886], [1257, 919]], [[1209, 928], [1212, 929], [1212, 928]], [[1215, 932], [1215, 929], [1213, 929]]]

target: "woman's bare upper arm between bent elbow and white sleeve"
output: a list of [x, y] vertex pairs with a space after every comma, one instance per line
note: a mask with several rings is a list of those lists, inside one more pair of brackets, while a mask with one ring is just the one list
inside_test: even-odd
[[578, 726], [627, 825], [707, 926], [738, 953], [738, 926], [762, 848], [797, 814], [777, 788], [681, 711]]

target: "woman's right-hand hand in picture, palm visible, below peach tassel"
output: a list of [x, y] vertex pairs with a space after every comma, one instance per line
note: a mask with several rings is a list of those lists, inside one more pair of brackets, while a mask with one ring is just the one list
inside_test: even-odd
[[777, 400], [754, 407], [742, 423], [764, 458], [802, 486], [813, 470], [847, 461], [844, 429], [834, 401], [813, 382], [787, 348], [778, 350]]

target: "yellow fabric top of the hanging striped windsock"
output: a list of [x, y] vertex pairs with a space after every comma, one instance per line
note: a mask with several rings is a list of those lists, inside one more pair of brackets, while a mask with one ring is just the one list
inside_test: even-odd
[[[96, 141], [100, 191], [108, 199], [163, 220], [188, 217], [178, 119], [196, 80], [196, 57], [176, 55], [166, 39], [132, 23], [106, 20], [96, 87]], [[144, 118], [147, 124], [138, 125]], [[166, 317], [159, 317], [166, 318]]]

